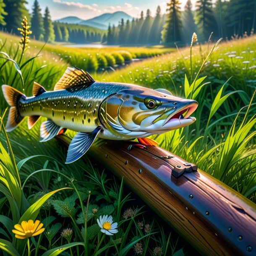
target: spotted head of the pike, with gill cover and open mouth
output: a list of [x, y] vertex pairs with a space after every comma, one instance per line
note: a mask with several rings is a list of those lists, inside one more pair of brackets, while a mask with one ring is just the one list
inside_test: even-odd
[[197, 106], [195, 100], [172, 96], [165, 89], [124, 89], [105, 101], [104, 115], [112, 128], [159, 134], [195, 122], [190, 115]]

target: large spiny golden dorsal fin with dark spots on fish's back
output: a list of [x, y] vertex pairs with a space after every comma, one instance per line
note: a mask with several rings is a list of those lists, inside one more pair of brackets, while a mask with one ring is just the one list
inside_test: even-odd
[[62, 78], [55, 84], [54, 91], [67, 89], [71, 86], [86, 86], [86, 84], [91, 84], [95, 80], [86, 71], [79, 68], [67, 68]]

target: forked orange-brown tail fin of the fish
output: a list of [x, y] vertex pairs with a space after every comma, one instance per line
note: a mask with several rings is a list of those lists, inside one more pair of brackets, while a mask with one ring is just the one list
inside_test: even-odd
[[18, 101], [21, 97], [25, 97], [25, 95], [22, 94], [20, 91], [14, 89], [13, 87], [5, 84], [2, 85], [2, 90], [5, 100], [10, 105], [10, 111], [5, 129], [6, 131], [13, 131], [24, 118], [20, 115], [18, 111]]

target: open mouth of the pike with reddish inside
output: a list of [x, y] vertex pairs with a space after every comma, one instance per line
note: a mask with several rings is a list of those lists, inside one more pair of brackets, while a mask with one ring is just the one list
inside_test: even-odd
[[184, 122], [185, 120], [191, 119], [192, 123], [196, 120], [196, 118], [191, 117], [190, 115], [196, 110], [198, 104], [197, 102], [186, 104], [183, 107], [180, 107], [176, 112], [172, 112], [165, 120], [164, 125], [167, 123], [171, 123], [172, 121], [179, 120], [180, 122]]

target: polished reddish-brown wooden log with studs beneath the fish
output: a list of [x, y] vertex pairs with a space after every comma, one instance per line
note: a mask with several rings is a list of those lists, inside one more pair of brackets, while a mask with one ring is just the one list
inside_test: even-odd
[[[60, 140], [68, 142], [66, 137]], [[253, 202], [202, 170], [195, 171], [194, 165], [176, 178], [180, 175], [177, 166], [186, 162], [164, 149], [147, 146], [128, 151], [129, 145], [102, 140], [88, 153], [123, 177], [134, 193], [201, 254], [256, 255]]]

